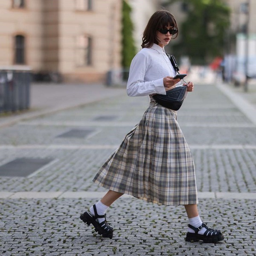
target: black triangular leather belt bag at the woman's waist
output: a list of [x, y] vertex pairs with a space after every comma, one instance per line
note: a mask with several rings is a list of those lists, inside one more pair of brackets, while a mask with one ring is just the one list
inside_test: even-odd
[[155, 94], [153, 99], [163, 107], [179, 110], [186, 96], [187, 86], [178, 86], [164, 94]]

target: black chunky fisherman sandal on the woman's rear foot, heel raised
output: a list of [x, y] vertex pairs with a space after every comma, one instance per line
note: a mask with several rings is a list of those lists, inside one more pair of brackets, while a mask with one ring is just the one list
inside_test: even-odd
[[[84, 223], [86, 223], [88, 226], [90, 226], [90, 224], [93, 224], [93, 226], [95, 227], [95, 231], [99, 235], [102, 235], [102, 237], [112, 238], [113, 228], [108, 225], [106, 221], [106, 215], [98, 215], [95, 204], [93, 205], [93, 209], [95, 216], [93, 216], [90, 212], [84, 212], [80, 215], [80, 219], [84, 221]], [[97, 221], [97, 218], [105, 218], [105, 221], [99, 223]]]

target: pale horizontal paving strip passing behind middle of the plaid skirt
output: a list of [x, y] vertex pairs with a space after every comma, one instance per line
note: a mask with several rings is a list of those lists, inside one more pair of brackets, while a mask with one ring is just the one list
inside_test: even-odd
[[[36, 144], [24, 144], [24, 145], [0, 145], [0, 150], [5, 149], [115, 149], [119, 145], [76, 145], [76, 144], [47, 144], [47, 145], [36, 145]], [[217, 144], [217, 145], [189, 145], [192, 149], [256, 149], [256, 145], [228, 145], [228, 144]]]

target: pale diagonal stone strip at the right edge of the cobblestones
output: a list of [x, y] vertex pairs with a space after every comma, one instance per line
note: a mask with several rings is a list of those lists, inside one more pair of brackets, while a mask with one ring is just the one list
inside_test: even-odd
[[256, 108], [250, 102], [247, 102], [239, 94], [232, 91], [226, 84], [216, 83], [215, 86], [224, 93], [254, 125], [256, 125]]

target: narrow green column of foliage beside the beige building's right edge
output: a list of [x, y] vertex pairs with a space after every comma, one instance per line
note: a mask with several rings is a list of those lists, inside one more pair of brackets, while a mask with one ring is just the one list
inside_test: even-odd
[[128, 68], [136, 54], [133, 38], [134, 25], [131, 20], [131, 7], [122, 1], [122, 67]]

